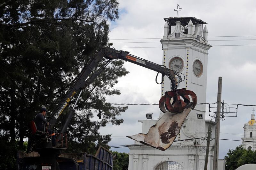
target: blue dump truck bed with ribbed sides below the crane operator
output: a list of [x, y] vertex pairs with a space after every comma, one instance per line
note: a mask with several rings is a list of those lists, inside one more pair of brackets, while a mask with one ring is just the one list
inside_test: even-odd
[[[26, 154], [18, 152], [18, 170], [36, 170], [40, 156], [37, 152]], [[112, 170], [113, 155], [100, 146], [95, 155], [87, 153], [64, 153], [57, 158], [60, 170]], [[45, 170], [47, 166], [44, 166]]]

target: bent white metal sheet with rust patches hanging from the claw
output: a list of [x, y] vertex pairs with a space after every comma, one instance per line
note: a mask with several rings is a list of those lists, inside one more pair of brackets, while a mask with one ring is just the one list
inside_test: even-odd
[[174, 139], [180, 132], [180, 128], [193, 107], [193, 102], [186, 103], [186, 107], [180, 113], [171, 113], [169, 111], [151, 126], [147, 134], [139, 133], [133, 136], [127, 136], [142, 144], [147, 144], [161, 151], [165, 151], [171, 146]]

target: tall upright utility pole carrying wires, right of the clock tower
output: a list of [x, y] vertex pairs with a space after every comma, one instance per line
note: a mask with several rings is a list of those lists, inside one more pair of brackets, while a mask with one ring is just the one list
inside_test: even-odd
[[219, 142], [220, 142], [221, 87], [222, 87], [222, 77], [219, 77], [218, 95], [217, 95], [216, 125], [215, 125], [214, 156], [213, 156], [213, 168], [212, 168], [212, 170], [217, 170], [218, 169]]

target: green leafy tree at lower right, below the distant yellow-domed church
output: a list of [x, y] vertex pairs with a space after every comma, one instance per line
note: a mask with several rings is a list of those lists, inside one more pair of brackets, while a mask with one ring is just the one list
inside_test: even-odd
[[256, 151], [247, 150], [242, 145], [236, 147], [236, 149], [228, 150], [225, 156], [226, 169], [235, 170], [239, 166], [244, 164], [256, 163]]

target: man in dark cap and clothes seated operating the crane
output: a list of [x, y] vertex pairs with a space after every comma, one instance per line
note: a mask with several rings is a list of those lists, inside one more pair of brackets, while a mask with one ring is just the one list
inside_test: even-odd
[[46, 119], [44, 118], [44, 116], [46, 115], [46, 108], [42, 107], [40, 109], [40, 113], [38, 113], [35, 118], [34, 118], [34, 122], [36, 123], [36, 127], [37, 127], [37, 130], [40, 130], [40, 131], [44, 131], [44, 124], [47, 126], [46, 130], [50, 133], [51, 133], [51, 136], [52, 136], [52, 146], [54, 147], [56, 145], [56, 135], [54, 133], [54, 131], [48, 127], [49, 123], [47, 123]]

